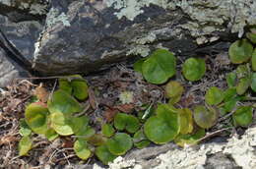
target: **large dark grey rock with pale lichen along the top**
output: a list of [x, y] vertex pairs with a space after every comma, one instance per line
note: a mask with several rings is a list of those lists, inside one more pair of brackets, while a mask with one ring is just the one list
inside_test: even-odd
[[226, 51], [232, 33], [256, 24], [251, 0], [64, 2], [52, 1], [36, 43], [33, 68], [45, 75], [95, 72], [156, 48], [180, 56]]

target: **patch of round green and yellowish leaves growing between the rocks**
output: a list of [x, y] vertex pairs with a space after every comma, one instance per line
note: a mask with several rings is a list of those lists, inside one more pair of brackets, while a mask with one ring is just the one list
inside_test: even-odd
[[[186, 105], [184, 84], [169, 81], [165, 84], [167, 104], [145, 103], [139, 112], [116, 113], [113, 123], [99, 119], [101, 131], [91, 126], [90, 118], [84, 114], [82, 101], [89, 96], [89, 86], [79, 75], [62, 77], [59, 88], [49, 94], [47, 104], [40, 99], [26, 107], [25, 119], [20, 121], [19, 155], [27, 155], [32, 149], [32, 133], [53, 141], [59, 136], [74, 135], [74, 151], [82, 160], [96, 154], [103, 164], [113, 161], [117, 155], [123, 155], [133, 146], [143, 148], [152, 141], [158, 144], [174, 141], [179, 146], [198, 143], [204, 139], [206, 130], [216, 125], [219, 116], [231, 117], [235, 127], [248, 127], [252, 123], [255, 104], [242, 104], [255, 100], [256, 92], [256, 49], [255, 31], [246, 33], [249, 39], [235, 41], [229, 47], [229, 58], [238, 65], [235, 71], [226, 74], [226, 88], [212, 86], [206, 91], [205, 103], [189, 108]], [[134, 64], [134, 70], [141, 73], [151, 84], [164, 84], [176, 73], [176, 58], [165, 50], [158, 49], [147, 58]], [[186, 80], [199, 81], [206, 73], [204, 59], [189, 58], [182, 65], [182, 74]], [[177, 77], [178, 78], [178, 77]], [[160, 86], [161, 87], [161, 86]], [[122, 104], [134, 101], [133, 91], [119, 94]], [[92, 100], [90, 100], [92, 101]], [[120, 102], [119, 101], [119, 102]], [[242, 106], [240, 106], [242, 105]], [[132, 137], [131, 137], [132, 136]]]

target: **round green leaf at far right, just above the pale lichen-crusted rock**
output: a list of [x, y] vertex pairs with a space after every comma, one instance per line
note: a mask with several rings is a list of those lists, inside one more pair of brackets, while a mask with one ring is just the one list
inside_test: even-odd
[[252, 107], [241, 106], [233, 114], [232, 120], [235, 126], [247, 127], [252, 122]]

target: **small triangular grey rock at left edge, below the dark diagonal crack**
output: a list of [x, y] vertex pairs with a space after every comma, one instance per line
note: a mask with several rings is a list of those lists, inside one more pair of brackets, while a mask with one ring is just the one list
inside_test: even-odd
[[8, 59], [7, 53], [0, 48], [0, 87], [5, 87], [19, 77], [28, 76], [28, 72]]

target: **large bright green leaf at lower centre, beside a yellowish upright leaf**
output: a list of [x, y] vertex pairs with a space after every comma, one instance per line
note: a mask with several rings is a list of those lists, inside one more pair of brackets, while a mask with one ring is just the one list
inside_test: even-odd
[[157, 116], [150, 117], [144, 125], [144, 133], [150, 141], [165, 143], [173, 141], [180, 131], [180, 119], [167, 104], [160, 104]]

